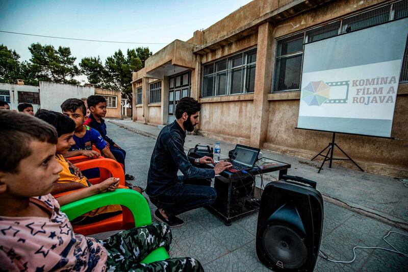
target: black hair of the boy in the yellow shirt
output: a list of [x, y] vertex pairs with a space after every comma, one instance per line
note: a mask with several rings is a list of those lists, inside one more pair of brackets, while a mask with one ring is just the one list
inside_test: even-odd
[[57, 130], [58, 137], [75, 130], [75, 122], [68, 116], [56, 111], [38, 110], [35, 117], [52, 125]]

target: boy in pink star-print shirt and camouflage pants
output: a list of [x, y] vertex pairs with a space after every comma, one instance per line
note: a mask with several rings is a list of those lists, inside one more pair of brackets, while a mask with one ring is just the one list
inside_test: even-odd
[[203, 271], [193, 258], [140, 261], [159, 246], [169, 246], [171, 232], [153, 224], [96, 240], [73, 233], [60, 205], [99, 192], [114, 191], [118, 180], [60, 197], [53, 190], [61, 165], [55, 158], [58, 135], [46, 122], [0, 111], [0, 267], [9, 271]]

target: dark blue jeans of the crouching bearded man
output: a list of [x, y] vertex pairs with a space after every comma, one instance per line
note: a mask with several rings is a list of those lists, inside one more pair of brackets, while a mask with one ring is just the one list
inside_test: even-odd
[[211, 184], [211, 179], [189, 180], [184, 176], [178, 177], [179, 182], [168, 188], [161, 195], [150, 197], [151, 203], [159, 209], [164, 209], [168, 216], [175, 216], [186, 211], [211, 205], [217, 198], [214, 188], [205, 185]]

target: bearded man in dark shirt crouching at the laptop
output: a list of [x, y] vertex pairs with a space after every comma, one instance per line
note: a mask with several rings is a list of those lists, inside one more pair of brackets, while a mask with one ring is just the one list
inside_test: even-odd
[[[213, 204], [217, 193], [211, 179], [231, 167], [230, 162], [221, 161], [214, 169], [199, 168], [199, 164], [212, 163], [212, 158], [194, 159], [184, 152], [186, 131], [194, 130], [200, 110], [194, 98], [182, 98], [175, 109], [176, 120], [162, 129], [151, 155], [146, 193], [158, 208], [155, 218], [170, 227], [184, 224], [176, 215]], [[183, 176], [177, 176], [179, 170]]]

